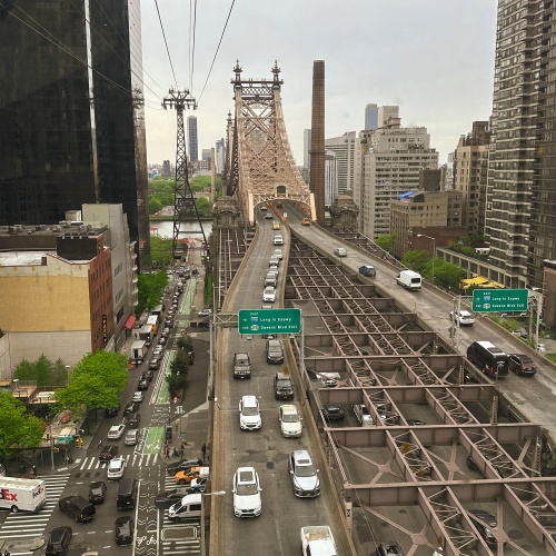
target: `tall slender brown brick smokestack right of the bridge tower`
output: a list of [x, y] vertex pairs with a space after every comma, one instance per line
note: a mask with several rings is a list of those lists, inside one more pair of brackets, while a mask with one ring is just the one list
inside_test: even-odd
[[325, 224], [325, 60], [312, 62], [312, 118], [309, 188], [317, 222]]

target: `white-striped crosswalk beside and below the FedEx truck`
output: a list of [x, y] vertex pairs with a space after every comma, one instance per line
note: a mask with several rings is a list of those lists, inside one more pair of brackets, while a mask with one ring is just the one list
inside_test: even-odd
[[[48, 520], [56, 507], [58, 507], [58, 500], [68, 483], [70, 474], [64, 473], [61, 475], [51, 475], [41, 477], [39, 479], [44, 480], [47, 489], [47, 505], [40, 509], [37, 514], [30, 512], [18, 512], [17, 514], [8, 514], [4, 523], [0, 529], [0, 545], [6, 543], [9, 545], [9, 540], [22, 540], [29, 538], [30, 540], [41, 536], [44, 533]], [[12, 552], [13, 555], [30, 555], [31, 552]]]

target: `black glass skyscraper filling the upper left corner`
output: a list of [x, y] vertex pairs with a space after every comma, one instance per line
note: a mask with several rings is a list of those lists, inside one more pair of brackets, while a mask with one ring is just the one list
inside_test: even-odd
[[0, 31], [0, 225], [121, 202], [148, 255], [139, 4], [21, 0]]

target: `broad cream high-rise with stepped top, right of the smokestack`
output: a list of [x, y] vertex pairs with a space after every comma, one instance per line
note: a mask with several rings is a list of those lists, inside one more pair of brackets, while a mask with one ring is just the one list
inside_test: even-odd
[[[393, 117], [394, 118], [394, 117]], [[390, 201], [419, 189], [419, 171], [438, 168], [427, 128], [403, 128], [390, 120], [361, 141], [361, 186], [354, 190], [359, 205], [359, 229], [373, 239], [390, 232]]]

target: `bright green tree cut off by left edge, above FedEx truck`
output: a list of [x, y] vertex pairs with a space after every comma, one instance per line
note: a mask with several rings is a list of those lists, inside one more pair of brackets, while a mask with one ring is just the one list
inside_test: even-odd
[[38, 447], [41, 439], [41, 420], [28, 414], [26, 406], [11, 394], [0, 391], [0, 454]]

